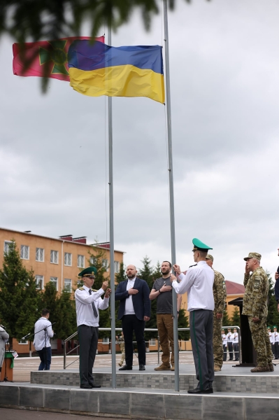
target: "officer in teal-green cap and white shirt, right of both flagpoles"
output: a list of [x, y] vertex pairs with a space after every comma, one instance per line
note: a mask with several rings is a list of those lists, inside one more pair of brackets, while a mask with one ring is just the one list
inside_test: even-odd
[[186, 274], [181, 273], [179, 265], [173, 265], [178, 279], [171, 274], [171, 281], [176, 293], [188, 292], [190, 335], [196, 379], [199, 381], [198, 386], [189, 389], [188, 393], [213, 393], [214, 271], [206, 264], [208, 249], [212, 248], [196, 238], [193, 239], [193, 244], [194, 262], [197, 264], [190, 267]]

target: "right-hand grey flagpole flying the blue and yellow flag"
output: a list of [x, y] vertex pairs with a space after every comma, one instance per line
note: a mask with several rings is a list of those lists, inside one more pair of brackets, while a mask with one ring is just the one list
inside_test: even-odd
[[[165, 67], [166, 67], [166, 118], [168, 125], [168, 171], [169, 171], [169, 207], [171, 218], [171, 261], [176, 264], [176, 227], [174, 223], [174, 195], [173, 195], [173, 146], [171, 137], [171, 90], [169, 78], [169, 27], [168, 5], [164, 0], [164, 41], [165, 41]], [[174, 389], [179, 391], [179, 356], [178, 356], [178, 313], [177, 295], [173, 289], [173, 341], [174, 341]]]

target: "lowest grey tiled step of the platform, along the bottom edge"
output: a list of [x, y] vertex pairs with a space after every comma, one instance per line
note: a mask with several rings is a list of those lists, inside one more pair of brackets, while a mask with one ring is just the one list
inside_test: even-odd
[[143, 388], [99, 388], [22, 383], [0, 384], [0, 407], [66, 412], [120, 419], [262, 420], [278, 418], [279, 395], [213, 393]]

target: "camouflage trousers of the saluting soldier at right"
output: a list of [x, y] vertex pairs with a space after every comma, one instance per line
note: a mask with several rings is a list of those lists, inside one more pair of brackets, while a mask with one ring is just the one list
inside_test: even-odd
[[272, 362], [271, 342], [266, 330], [266, 318], [259, 318], [259, 322], [253, 322], [252, 316], [248, 316], [252, 341], [257, 351], [257, 366], [265, 367]]

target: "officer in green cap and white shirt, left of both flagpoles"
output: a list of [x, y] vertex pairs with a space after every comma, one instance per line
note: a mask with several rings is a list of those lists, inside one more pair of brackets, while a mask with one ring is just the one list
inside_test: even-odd
[[[92, 370], [99, 337], [99, 309], [108, 307], [110, 289], [108, 281], [103, 281], [101, 288], [92, 290], [96, 267], [85, 268], [78, 276], [82, 277], [83, 287], [75, 292], [78, 340], [80, 342], [80, 388], [101, 388], [94, 384]], [[106, 290], [104, 299], [101, 295]]]

